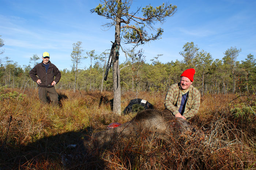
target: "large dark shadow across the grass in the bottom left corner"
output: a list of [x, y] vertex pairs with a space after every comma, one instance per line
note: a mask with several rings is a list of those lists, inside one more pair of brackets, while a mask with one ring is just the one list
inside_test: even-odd
[[24, 145], [0, 141], [0, 169], [104, 169], [104, 162], [95, 153], [83, 148], [68, 148], [89, 138], [90, 127], [48, 136]]

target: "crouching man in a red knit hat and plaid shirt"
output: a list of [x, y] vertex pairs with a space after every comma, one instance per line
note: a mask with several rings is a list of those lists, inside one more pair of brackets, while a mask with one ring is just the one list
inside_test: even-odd
[[200, 106], [200, 92], [192, 86], [195, 69], [187, 69], [180, 82], [169, 87], [165, 97], [165, 113], [189, 120], [196, 115]]

